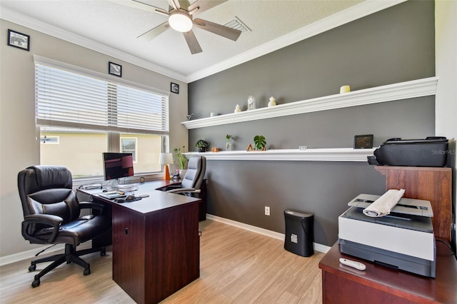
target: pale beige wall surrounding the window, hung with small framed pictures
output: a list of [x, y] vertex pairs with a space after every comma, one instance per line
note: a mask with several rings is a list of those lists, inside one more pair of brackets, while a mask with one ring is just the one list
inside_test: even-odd
[[[30, 51], [8, 46], [8, 29], [30, 35]], [[39, 143], [35, 139], [34, 54], [107, 76], [108, 62], [114, 61], [122, 66], [122, 78], [163, 91], [170, 90], [170, 82], [179, 83], [179, 94], [171, 93], [169, 98], [171, 148], [188, 141], [187, 130], [180, 124], [187, 114], [188, 98], [186, 83], [8, 21], [1, 20], [0, 41], [0, 257], [4, 257], [33, 248], [21, 235], [23, 216], [17, 173], [39, 163], [36, 152]]]

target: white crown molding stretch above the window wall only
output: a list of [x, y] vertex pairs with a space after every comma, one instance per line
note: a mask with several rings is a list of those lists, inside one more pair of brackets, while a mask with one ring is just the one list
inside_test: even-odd
[[171, 71], [170, 69], [166, 69], [163, 66], [159, 66], [158, 64], [153, 64], [150, 61], [146, 61], [124, 51], [114, 49], [111, 46], [106, 46], [105, 44], [101, 44], [97, 41], [87, 39], [83, 36], [73, 34], [69, 31], [65, 31], [64, 29], [59, 29], [56, 26], [51, 26], [45, 22], [39, 21], [29, 16], [25, 16], [24, 14], [20, 14], [17, 11], [1, 7], [0, 18], [14, 24], [26, 26], [30, 29], [33, 29], [34, 31], [39, 31], [46, 35], [53, 36], [64, 41], [69, 41], [72, 44], [83, 46], [86, 49], [91, 49], [92, 51], [97, 51], [101, 54], [129, 62], [129, 64], [141, 66], [141, 68], [148, 69], [149, 71], [153, 71], [155, 73], [186, 82], [186, 76], [184, 74], [179, 74], [176, 71]]

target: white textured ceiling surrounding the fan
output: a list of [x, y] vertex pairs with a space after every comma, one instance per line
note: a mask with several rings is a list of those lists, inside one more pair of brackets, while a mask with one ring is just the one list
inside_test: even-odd
[[[129, 0], [1, 0], [1, 18], [91, 49], [109, 49], [116, 58], [146, 63], [141, 66], [192, 81], [199, 78], [197, 75], [210, 74], [202, 71], [228, 66], [230, 61], [239, 63], [243, 56], [248, 59], [246, 54], [254, 54], [272, 41], [363, 3], [361, 0], [229, 0], [197, 17], [218, 24], [238, 18], [251, 31], [243, 32], [238, 41], [231, 41], [194, 28], [203, 52], [191, 55], [183, 35], [172, 29], [149, 42], [137, 39], [167, 17], [124, 6], [121, 3], [125, 1]], [[169, 8], [166, 0], [142, 1]], [[277, 49], [281, 44], [274, 47]]]

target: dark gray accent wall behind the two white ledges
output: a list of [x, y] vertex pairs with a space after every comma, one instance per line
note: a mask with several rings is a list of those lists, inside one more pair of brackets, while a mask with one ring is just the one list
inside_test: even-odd
[[[356, 91], [435, 76], [434, 39], [433, 1], [407, 1], [189, 83], [189, 113], [233, 113], [237, 103], [246, 110], [250, 95], [262, 108], [270, 96], [281, 104], [332, 95], [346, 84]], [[189, 130], [189, 147], [204, 138], [224, 148], [227, 133], [235, 150], [257, 134], [269, 149], [347, 148], [354, 135], [369, 133], [378, 146], [392, 137], [435, 135], [434, 108], [428, 96], [197, 128]], [[284, 209], [311, 212], [315, 241], [323, 245], [336, 241], [338, 216], [351, 198], [385, 191], [385, 178], [368, 163], [209, 161], [207, 175], [208, 213], [284, 233]]]

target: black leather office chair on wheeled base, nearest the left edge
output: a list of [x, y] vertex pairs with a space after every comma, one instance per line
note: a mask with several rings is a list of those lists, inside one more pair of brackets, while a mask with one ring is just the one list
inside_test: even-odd
[[[84, 268], [84, 275], [91, 273], [89, 263], [80, 255], [105, 248], [76, 251], [76, 246], [105, 233], [111, 228], [111, 218], [103, 213], [98, 203], [79, 202], [71, 188], [71, 172], [62, 166], [32, 166], [19, 172], [18, 188], [24, 221], [22, 235], [32, 244], [65, 244], [65, 253], [32, 260], [29, 271], [36, 264], [53, 261], [35, 275], [32, 287], [40, 285], [40, 278], [57, 266], [74, 262]], [[94, 214], [80, 216], [81, 209], [91, 208]], [[95, 215], [96, 214], [96, 215]]]

